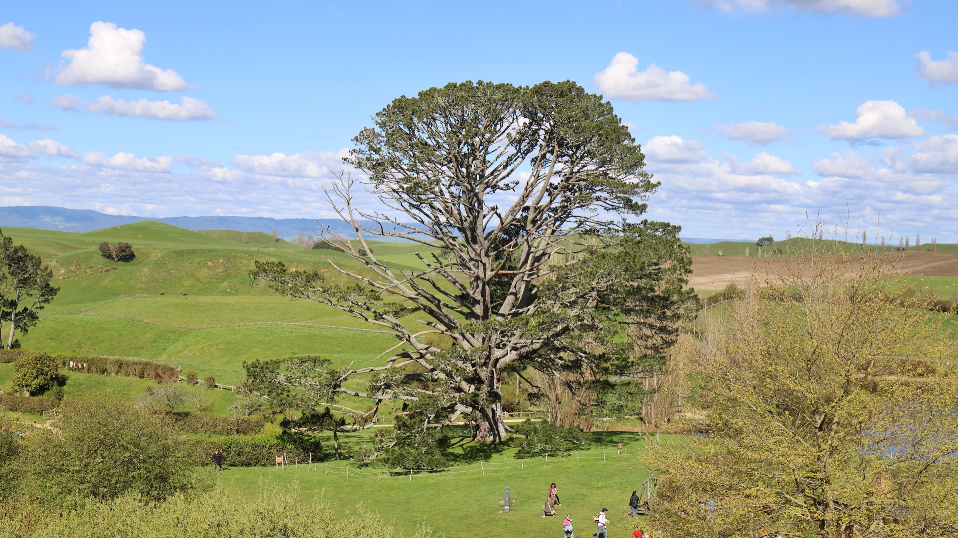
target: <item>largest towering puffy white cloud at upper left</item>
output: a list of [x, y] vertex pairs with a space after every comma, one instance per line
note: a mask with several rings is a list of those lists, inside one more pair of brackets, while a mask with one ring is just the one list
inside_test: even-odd
[[188, 85], [174, 71], [149, 65], [140, 54], [146, 34], [108, 22], [90, 25], [86, 48], [63, 51], [70, 60], [55, 82], [61, 85], [103, 84], [111, 88], [185, 90]]

